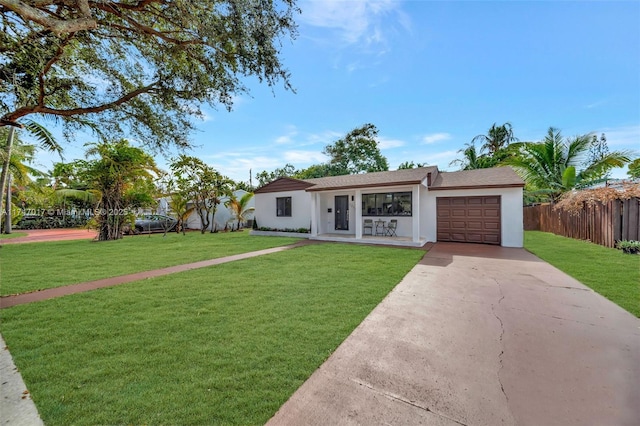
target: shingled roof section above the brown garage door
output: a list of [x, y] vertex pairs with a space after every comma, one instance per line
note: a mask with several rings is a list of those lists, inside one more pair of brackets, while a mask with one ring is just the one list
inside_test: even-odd
[[509, 188], [523, 187], [524, 181], [511, 167], [440, 172], [431, 191], [447, 189]]

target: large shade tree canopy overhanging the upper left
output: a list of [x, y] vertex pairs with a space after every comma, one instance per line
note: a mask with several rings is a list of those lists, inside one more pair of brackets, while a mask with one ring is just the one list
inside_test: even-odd
[[201, 105], [231, 108], [280, 61], [295, 0], [0, 0], [0, 127], [53, 116], [65, 136], [188, 145]]

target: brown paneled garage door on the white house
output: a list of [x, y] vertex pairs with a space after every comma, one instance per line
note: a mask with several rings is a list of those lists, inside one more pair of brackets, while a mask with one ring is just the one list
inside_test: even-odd
[[439, 197], [438, 241], [500, 244], [500, 196]]

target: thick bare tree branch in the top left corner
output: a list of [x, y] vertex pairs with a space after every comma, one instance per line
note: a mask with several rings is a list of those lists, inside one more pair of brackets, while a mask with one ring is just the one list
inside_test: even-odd
[[[88, 0], [78, 0], [82, 18], [70, 19], [68, 21], [51, 18], [41, 10], [29, 6], [20, 0], [0, 0], [0, 5], [14, 11], [27, 21], [33, 21], [42, 25], [55, 34], [92, 30], [98, 26], [96, 20], [91, 17]], [[85, 12], [87, 14], [85, 14]]]

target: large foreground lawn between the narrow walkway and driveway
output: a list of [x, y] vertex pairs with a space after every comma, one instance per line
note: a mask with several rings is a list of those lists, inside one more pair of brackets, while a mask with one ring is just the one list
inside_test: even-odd
[[319, 244], [0, 311], [47, 425], [264, 424], [416, 264]]

